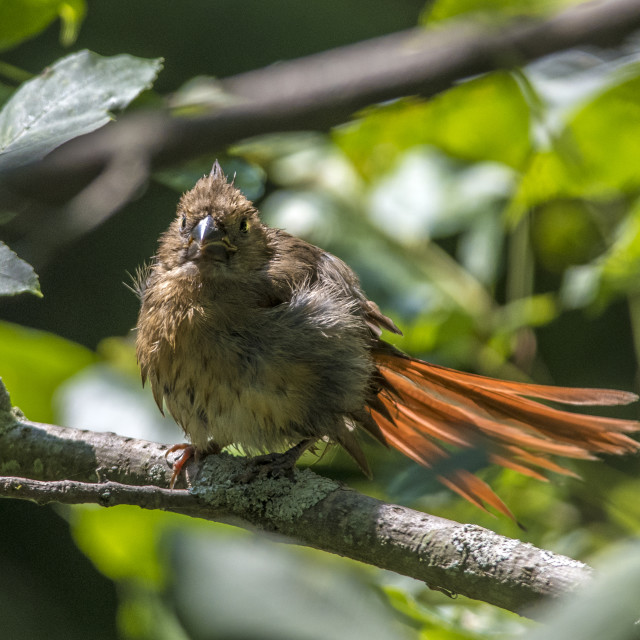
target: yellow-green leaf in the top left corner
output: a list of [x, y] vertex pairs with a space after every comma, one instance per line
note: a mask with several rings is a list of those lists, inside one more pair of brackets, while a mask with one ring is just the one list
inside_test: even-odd
[[15, 47], [62, 20], [60, 40], [72, 44], [86, 12], [84, 0], [3, 0], [0, 2], [0, 51]]

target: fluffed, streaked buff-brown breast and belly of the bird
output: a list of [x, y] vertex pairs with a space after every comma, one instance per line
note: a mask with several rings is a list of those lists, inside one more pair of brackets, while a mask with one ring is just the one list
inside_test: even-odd
[[210, 440], [249, 452], [336, 440], [370, 389], [364, 322], [331, 283], [307, 283], [271, 306], [235, 284], [146, 296], [138, 358], [156, 402], [198, 449]]

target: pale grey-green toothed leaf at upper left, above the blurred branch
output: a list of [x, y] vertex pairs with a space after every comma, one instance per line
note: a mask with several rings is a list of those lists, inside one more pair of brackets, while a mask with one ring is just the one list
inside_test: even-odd
[[80, 51], [23, 84], [0, 112], [0, 169], [38, 160], [112, 119], [150, 87], [162, 60]]

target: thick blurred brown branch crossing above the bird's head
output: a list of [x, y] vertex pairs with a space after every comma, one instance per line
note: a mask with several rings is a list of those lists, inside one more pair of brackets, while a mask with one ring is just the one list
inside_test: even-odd
[[[5, 174], [4, 182], [36, 199], [68, 196], [121, 154], [137, 154], [143, 164], [158, 167], [259, 134], [324, 130], [376, 102], [431, 96], [460, 79], [577, 45], [617, 46], [638, 28], [637, 0], [608, 0], [580, 4], [546, 21], [493, 27], [458, 22], [395, 33], [223, 80], [232, 104], [206, 115], [125, 116], [41, 162]], [[9, 194], [2, 195], [6, 202]]]

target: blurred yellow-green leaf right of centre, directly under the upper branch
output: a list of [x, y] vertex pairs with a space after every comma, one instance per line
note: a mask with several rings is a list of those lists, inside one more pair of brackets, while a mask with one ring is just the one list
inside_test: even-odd
[[[499, 126], [496, 126], [499, 123]], [[431, 144], [465, 161], [520, 169], [531, 152], [529, 106], [514, 76], [491, 73], [429, 100], [376, 107], [335, 139], [366, 176], [388, 171], [410, 147]]]

